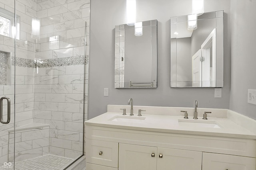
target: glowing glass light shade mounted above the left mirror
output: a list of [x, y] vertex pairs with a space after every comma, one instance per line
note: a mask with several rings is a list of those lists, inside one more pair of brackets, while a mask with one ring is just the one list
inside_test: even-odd
[[126, 0], [127, 25], [133, 26], [136, 22], [136, 0]]

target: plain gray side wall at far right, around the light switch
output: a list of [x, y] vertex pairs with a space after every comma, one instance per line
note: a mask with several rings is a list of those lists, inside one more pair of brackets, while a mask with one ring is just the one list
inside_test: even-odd
[[231, 0], [230, 109], [256, 119], [256, 105], [247, 103], [247, 90], [256, 89], [256, 0]]

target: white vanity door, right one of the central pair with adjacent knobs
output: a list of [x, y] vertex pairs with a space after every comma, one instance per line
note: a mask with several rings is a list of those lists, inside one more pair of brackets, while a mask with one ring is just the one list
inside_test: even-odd
[[158, 148], [157, 170], [201, 170], [202, 152]]

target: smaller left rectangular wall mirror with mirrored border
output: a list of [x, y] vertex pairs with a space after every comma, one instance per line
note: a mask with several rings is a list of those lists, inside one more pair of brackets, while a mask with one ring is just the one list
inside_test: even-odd
[[157, 20], [115, 26], [114, 87], [157, 87]]

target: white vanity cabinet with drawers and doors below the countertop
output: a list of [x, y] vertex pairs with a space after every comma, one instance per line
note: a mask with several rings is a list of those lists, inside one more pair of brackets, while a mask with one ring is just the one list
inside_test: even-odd
[[256, 140], [86, 125], [86, 170], [256, 170]]

